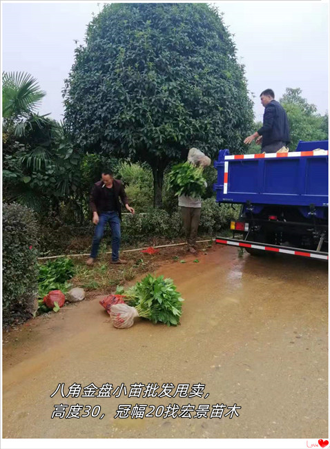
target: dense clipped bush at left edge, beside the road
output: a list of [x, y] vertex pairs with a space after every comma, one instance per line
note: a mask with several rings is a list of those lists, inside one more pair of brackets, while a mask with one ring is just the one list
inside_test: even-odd
[[38, 234], [30, 209], [3, 204], [3, 325], [21, 323], [35, 312]]

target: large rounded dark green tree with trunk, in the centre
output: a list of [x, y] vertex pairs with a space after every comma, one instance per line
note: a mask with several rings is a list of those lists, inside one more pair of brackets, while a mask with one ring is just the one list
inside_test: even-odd
[[64, 87], [65, 120], [84, 151], [164, 170], [198, 146], [234, 153], [253, 121], [244, 68], [215, 8], [191, 3], [110, 4], [88, 25]]

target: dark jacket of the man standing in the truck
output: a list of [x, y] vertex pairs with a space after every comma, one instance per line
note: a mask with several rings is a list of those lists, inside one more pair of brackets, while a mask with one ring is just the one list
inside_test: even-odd
[[264, 108], [264, 122], [258, 134], [262, 135], [262, 147], [280, 140], [286, 144], [290, 142], [287, 113], [275, 99]]

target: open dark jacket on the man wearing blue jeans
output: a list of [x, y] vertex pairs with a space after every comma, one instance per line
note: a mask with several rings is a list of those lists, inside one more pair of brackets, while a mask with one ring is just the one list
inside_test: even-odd
[[[95, 182], [92, 191], [90, 192], [89, 205], [93, 212], [101, 213], [102, 210], [106, 210], [108, 198], [105, 191], [106, 187], [103, 181]], [[125, 193], [122, 181], [113, 180], [113, 191], [115, 193], [115, 205], [120, 220], [122, 220], [122, 207], [120, 206], [119, 197], [122, 203], [128, 204], [127, 196]]]

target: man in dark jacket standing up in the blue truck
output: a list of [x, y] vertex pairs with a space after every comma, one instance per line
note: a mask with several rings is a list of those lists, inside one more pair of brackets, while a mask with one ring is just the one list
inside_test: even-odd
[[255, 143], [261, 142], [262, 153], [276, 153], [290, 142], [287, 113], [274, 97], [271, 89], [266, 89], [260, 94], [261, 103], [264, 106], [264, 122], [258, 131], [244, 140], [244, 144], [251, 144], [257, 137]]

